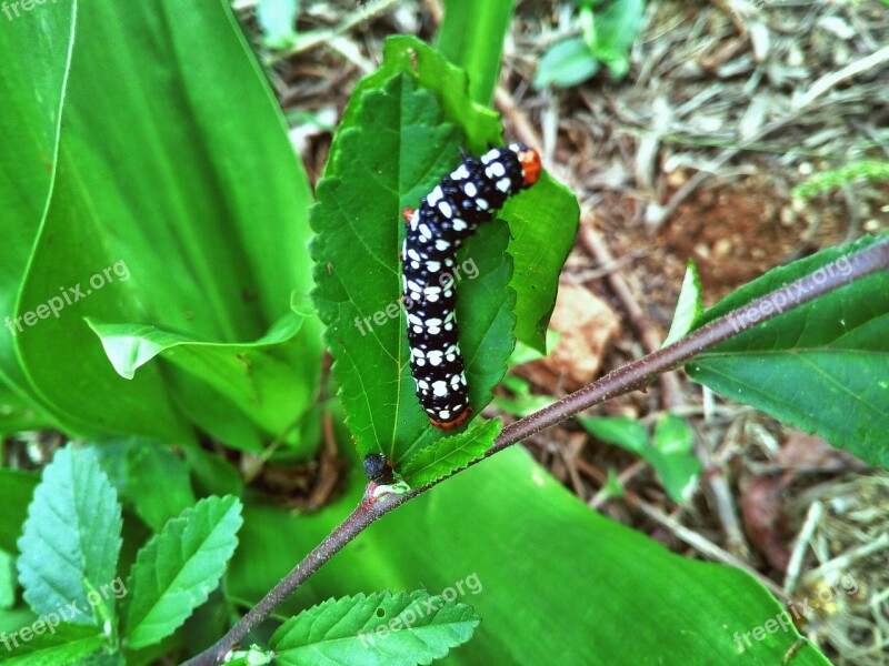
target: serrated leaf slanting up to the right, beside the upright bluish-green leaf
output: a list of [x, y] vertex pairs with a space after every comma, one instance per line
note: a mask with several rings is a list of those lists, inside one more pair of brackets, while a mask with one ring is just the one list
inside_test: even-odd
[[207, 497], [151, 537], [127, 584], [127, 647], [158, 643], [207, 601], [234, 552], [241, 523], [237, 497]]

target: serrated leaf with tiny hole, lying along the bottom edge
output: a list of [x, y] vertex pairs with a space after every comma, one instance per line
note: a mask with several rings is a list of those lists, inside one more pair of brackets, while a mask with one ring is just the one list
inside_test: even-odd
[[471, 606], [424, 591], [328, 599], [291, 617], [271, 637], [281, 666], [429, 664], [469, 640]]

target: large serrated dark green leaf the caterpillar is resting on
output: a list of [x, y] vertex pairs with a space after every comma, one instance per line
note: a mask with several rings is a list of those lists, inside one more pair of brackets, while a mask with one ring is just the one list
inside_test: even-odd
[[[433, 95], [414, 89], [406, 74], [367, 90], [360, 102], [356, 125], [340, 130], [331, 155], [328, 169], [337, 175], [318, 185], [314, 297], [359, 450], [382, 451], [398, 465], [441, 436], [430, 432], [410, 375], [399, 211], [417, 205], [459, 162], [460, 134], [441, 122]], [[485, 225], [458, 253], [455, 269], [460, 349], [476, 413], [490, 402], [512, 347], [507, 242], [505, 225]]]

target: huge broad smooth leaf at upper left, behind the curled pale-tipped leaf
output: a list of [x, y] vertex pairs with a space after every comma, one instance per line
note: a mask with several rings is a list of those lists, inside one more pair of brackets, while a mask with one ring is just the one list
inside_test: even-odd
[[[120, 379], [82, 317], [261, 337], [292, 292], [308, 293], [311, 192], [228, 2], [96, 0], [79, 6], [77, 32], [52, 199], [11, 312], [24, 326], [16, 351], [66, 430], [188, 442], [183, 415], [212, 424], [218, 394], [156, 366]], [[286, 354], [304, 382], [294, 417], [313, 400], [318, 332], [307, 323]], [[238, 426], [233, 443], [258, 447], [261, 428]]]

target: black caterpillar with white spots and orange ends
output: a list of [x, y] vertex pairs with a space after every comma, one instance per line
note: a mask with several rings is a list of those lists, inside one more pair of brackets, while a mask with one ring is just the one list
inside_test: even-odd
[[404, 209], [402, 301], [408, 321], [410, 370], [417, 397], [438, 428], [460, 426], [471, 406], [457, 334], [451, 270], [460, 245], [507, 199], [537, 182], [540, 155], [522, 143], [466, 157], [423, 199]]

